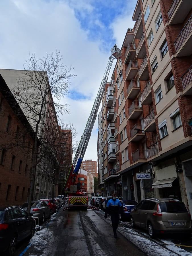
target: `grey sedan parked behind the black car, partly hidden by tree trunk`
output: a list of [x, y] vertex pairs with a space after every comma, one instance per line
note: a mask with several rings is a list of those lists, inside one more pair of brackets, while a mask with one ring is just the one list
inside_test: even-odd
[[[24, 203], [21, 208], [27, 210], [27, 205], [28, 203]], [[50, 209], [44, 201], [35, 201], [31, 205], [30, 213], [33, 214], [33, 217], [38, 217], [42, 222], [45, 222], [46, 218], [51, 218]]]

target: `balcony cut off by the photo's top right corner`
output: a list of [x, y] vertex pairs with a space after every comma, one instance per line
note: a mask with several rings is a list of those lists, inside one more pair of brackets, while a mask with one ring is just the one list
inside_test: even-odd
[[182, 23], [192, 8], [192, 1], [174, 0], [168, 11], [170, 25]]

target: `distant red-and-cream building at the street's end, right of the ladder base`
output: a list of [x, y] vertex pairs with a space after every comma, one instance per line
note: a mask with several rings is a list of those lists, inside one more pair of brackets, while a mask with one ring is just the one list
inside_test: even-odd
[[80, 169], [75, 183], [80, 183], [81, 187], [86, 189], [88, 197], [94, 195], [94, 177], [90, 172]]

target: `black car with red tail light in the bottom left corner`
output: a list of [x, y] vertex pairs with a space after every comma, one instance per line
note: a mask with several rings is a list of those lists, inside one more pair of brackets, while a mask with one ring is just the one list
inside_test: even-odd
[[0, 208], [0, 252], [14, 255], [16, 244], [34, 234], [32, 214], [28, 215], [20, 206]]

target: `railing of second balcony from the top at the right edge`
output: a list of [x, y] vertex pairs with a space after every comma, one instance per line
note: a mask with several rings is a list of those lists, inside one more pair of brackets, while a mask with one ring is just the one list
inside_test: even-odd
[[187, 39], [191, 31], [192, 31], [192, 16], [188, 20], [185, 27], [181, 30], [179, 36], [177, 37], [174, 43], [176, 52], [181, 48], [182, 44], [185, 42], [185, 40]]

